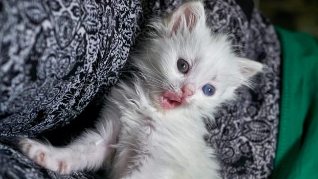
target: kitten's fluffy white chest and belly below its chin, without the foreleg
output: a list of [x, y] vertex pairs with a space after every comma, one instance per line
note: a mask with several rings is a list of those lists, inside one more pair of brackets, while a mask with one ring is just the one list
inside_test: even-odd
[[[112, 173], [140, 172], [141, 178], [206, 178], [217, 173], [199, 117], [184, 110], [157, 110], [138, 84], [128, 91], [124, 98], [113, 98], [120, 108], [121, 131]], [[118, 92], [113, 95], [118, 97]]]

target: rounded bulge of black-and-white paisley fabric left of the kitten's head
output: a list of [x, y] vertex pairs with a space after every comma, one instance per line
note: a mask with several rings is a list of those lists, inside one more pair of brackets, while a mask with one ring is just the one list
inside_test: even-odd
[[118, 77], [141, 6], [130, 1], [3, 1], [1, 134], [70, 122]]

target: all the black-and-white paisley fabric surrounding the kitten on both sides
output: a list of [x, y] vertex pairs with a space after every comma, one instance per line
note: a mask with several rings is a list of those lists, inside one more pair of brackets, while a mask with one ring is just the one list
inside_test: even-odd
[[[207, 124], [207, 141], [219, 153], [224, 178], [267, 178], [278, 132], [279, 41], [257, 9], [246, 14], [239, 2], [206, 1], [207, 22], [213, 31], [230, 35], [238, 54], [268, 69], [255, 78], [253, 90], [242, 87], [238, 101], [221, 107], [215, 123]], [[40, 168], [18, 152], [17, 137], [38, 137], [63, 126], [72, 130], [88, 104], [98, 106], [116, 82], [149, 17], [164, 16], [180, 4], [1, 1], [0, 178], [98, 178], [94, 173], [62, 176]]]

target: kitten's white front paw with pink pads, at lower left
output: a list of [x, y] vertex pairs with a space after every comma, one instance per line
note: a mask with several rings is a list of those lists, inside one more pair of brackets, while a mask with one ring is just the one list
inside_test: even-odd
[[67, 165], [61, 157], [59, 158], [59, 153], [48, 145], [30, 139], [22, 139], [19, 142], [19, 147], [22, 153], [44, 168], [57, 171], [61, 174], [71, 172], [70, 165]]

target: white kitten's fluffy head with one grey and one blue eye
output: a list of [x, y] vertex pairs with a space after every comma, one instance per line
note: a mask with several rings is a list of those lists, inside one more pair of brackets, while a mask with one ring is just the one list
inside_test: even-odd
[[262, 64], [235, 56], [226, 36], [213, 34], [205, 18], [202, 3], [191, 2], [151, 24], [135, 63], [158, 107], [211, 111], [262, 70]]

